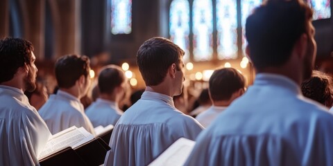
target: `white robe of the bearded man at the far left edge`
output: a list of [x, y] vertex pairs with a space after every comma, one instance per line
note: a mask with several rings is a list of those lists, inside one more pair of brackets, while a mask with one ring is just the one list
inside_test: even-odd
[[51, 133], [20, 89], [0, 85], [0, 165], [39, 165]]

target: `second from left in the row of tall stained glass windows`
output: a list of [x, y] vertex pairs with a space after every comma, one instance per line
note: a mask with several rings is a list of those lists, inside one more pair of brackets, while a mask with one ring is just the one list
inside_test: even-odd
[[192, 9], [194, 60], [210, 60], [213, 55], [212, 0], [194, 0]]

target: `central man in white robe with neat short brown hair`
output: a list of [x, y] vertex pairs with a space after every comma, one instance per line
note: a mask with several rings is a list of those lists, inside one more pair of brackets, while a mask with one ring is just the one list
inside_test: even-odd
[[148, 165], [178, 138], [196, 139], [203, 127], [172, 100], [185, 80], [182, 55], [181, 48], [162, 37], [139, 48], [137, 64], [146, 90], [114, 127], [105, 165]]

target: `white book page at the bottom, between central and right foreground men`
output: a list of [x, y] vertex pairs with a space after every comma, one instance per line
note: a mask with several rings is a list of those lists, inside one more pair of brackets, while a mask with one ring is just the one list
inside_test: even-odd
[[148, 166], [184, 165], [195, 143], [187, 138], [179, 138]]

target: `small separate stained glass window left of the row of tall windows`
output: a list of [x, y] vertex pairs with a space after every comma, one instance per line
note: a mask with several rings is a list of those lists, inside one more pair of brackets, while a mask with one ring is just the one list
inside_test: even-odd
[[132, 0], [111, 0], [111, 32], [129, 34], [132, 31]]

